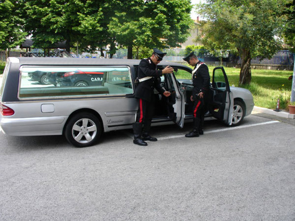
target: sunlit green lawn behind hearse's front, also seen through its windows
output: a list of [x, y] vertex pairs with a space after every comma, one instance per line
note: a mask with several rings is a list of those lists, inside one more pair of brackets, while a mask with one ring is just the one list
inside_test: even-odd
[[[214, 66], [208, 66], [210, 77]], [[239, 86], [240, 69], [224, 67], [229, 79], [229, 85]], [[178, 71], [179, 72], [179, 71]], [[288, 109], [288, 102], [291, 96], [292, 81], [288, 77], [293, 71], [251, 69], [251, 84], [244, 85], [251, 91], [256, 106], [275, 109], [277, 99], [280, 98], [280, 109]], [[177, 78], [190, 79], [190, 74], [180, 72]]]

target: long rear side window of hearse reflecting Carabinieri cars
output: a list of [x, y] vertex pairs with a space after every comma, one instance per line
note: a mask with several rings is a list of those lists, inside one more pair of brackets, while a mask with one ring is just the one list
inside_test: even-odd
[[19, 98], [133, 94], [127, 66], [22, 66]]

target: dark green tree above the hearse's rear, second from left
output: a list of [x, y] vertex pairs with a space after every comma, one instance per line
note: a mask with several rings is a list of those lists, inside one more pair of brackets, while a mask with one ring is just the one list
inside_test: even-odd
[[[50, 48], [58, 41], [66, 41], [69, 52], [74, 43], [83, 42], [78, 12], [81, 2], [75, 0], [30, 0], [25, 1], [24, 17], [26, 30], [32, 34], [34, 46]], [[85, 47], [86, 45], [82, 45]]]

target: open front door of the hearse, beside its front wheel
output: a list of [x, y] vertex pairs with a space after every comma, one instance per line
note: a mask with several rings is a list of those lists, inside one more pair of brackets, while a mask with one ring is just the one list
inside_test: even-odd
[[234, 99], [223, 67], [213, 69], [209, 112], [227, 125], [232, 124]]

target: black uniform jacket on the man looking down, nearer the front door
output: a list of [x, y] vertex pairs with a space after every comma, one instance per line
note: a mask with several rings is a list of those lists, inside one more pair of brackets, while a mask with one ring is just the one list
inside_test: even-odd
[[204, 97], [208, 97], [209, 87], [210, 87], [210, 75], [209, 69], [206, 64], [199, 61], [194, 70], [197, 68], [198, 64], [201, 64], [197, 71], [192, 74], [192, 85], [194, 86], [192, 90], [192, 97], [195, 100], [197, 98], [197, 94], [200, 92], [204, 93]]

